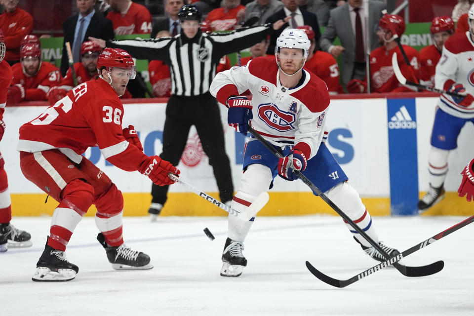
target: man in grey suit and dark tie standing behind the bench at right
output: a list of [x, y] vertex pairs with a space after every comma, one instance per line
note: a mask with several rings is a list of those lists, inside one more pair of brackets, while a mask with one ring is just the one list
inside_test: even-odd
[[[368, 27], [371, 34], [371, 51], [380, 46], [375, 30], [385, 8], [384, 2], [369, 0]], [[348, 0], [346, 4], [334, 8], [330, 12], [329, 22], [319, 43], [321, 50], [327, 51], [335, 58], [342, 54], [341, 77], [344, 85], [351, 79], [365, 80], [365, 56], [370, 53], [365, 51], [364, 44], [367, 40], [366, 13], [362, 0]], [[342, 46], [332, 44], [336, 37], [341, 40]]]

